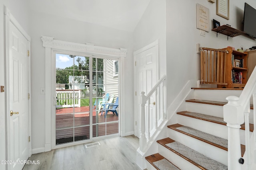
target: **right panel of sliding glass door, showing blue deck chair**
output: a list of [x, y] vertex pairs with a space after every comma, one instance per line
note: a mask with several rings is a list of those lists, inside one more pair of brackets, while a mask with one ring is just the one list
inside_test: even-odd
[[[118, 61], [93, 59], [94, 110], [92, 119], [93, 137], [111, 135], [119, 131], [119, 86]], [[93, 111], [94, 111], [93, 110]]]

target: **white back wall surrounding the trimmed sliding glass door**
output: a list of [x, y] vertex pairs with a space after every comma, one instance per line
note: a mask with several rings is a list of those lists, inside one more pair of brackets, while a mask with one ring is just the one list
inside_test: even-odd
[[[57, 40], [75, 43], [93, 43], [98, 46], [128, 49], [124, 59], [124, 94], [125, 102], [125, 133], [133, 132], [134, 117], [131, 114], [133, 108], [132, 98], [133, 79], [130, 72], [133, 71], [132, 33], [102, 27], [81, 21], [64, 19], [59, 16], [41, 14], [30, 11], [30, 36], [31, 36], [31, 100], [32, 100], [32, 152], [44, 147], [45, 142], [45, 96], [40, 94], [40, 87], [45, 84], [44, 47], [41, 35], [54, 37]], [[49, 66], [50, 68], [50, 66]], [[50, 107], [50, 106], [49, 106]], [[124, 134], [122, 134], [124, 135]]]

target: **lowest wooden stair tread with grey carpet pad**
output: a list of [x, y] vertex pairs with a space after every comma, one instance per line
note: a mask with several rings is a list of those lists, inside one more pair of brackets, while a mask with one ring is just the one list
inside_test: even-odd
[[172, 162], [168, 161], [166, 158], [164, 158], [164, 156], [159, 153], [146, 156], [145, 159], [157, 170], [180, 170], [178, 167], [172, 164]]

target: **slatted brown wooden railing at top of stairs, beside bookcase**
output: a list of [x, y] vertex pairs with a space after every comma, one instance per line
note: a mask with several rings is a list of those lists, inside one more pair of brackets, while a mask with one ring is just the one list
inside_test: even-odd
[[201, 50], [201, 84], [227, 85], [226, 54], [223, 49], [202, 48]]

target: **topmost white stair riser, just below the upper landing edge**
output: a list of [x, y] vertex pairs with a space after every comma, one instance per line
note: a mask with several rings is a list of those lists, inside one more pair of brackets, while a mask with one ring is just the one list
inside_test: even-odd
[[197, 100], [210, 100], [218, 102], [228, 102], [228, 96], [240, 96], [242, 90], [194, 90], [194, 98]]

